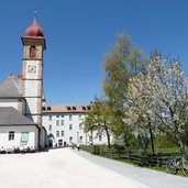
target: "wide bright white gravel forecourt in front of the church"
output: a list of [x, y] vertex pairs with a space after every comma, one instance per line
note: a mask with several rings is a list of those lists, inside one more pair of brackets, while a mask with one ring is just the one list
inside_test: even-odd
[[103, 165], [88, 161], [90, 156], [86, 153], [80, 152], [79, 155], [70, 148], [0, 155], [0, 188], [147, 187]]

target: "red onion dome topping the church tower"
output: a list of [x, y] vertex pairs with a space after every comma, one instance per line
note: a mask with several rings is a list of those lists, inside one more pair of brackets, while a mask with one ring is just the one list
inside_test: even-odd
[[44, 37], [43, 29], [37, 24], [36, 19], [34, 19], [33, 23], [26, 29], [24, 36]]

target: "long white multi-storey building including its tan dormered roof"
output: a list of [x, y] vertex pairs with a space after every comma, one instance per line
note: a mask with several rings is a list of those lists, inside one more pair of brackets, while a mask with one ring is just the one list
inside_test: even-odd
[[107, 144], [104, 134], [85, 133], [84, 120], [89, 110], [89, 106], [80, 104], [43, 107], [43, 126], [47, 131], [47, 145]]

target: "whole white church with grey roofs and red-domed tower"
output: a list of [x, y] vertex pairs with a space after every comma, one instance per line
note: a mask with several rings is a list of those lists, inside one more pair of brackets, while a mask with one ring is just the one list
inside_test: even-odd
[[43, 53], [46, 42], [36, 19], [21, 37], [22, 68], [0, 82], [0, 150], [45, 146], [46, 131], [42, 125]]

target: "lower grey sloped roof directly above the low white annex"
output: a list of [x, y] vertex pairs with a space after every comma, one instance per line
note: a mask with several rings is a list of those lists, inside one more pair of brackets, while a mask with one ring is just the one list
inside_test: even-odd
[[36, 125], [12, 107], [0, 107], [0, 125]]

